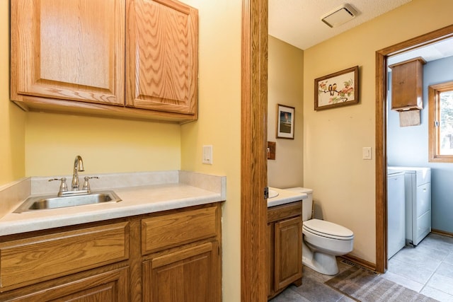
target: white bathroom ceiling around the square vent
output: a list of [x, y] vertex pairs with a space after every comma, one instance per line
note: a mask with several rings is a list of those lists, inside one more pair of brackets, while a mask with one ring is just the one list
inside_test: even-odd
[[[269, 0], [269, 35], [301, 50], [376, 18], [411, 0]], [[351, 21], [330, 28], [321, 16], [348, 3], [357, 11]]]

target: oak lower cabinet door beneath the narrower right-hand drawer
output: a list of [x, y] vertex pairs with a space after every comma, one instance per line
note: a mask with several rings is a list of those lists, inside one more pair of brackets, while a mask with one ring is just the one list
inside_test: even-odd
[[218, 247], [201, 243], [144, 261], [143, 301], [220, 301]]

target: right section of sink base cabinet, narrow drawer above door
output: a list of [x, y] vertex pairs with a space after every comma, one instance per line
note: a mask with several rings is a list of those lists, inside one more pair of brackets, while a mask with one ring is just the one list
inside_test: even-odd
[[220, 208], [142, 220], [143, 301], [222, 300]]

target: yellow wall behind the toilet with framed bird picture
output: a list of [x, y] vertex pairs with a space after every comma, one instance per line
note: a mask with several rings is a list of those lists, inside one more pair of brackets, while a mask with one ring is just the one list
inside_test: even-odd
[[[324, 219], [355, 233], [354, 251], [375, 262], [375, 52], [452, 23], [450, 0], [413, 0], [304, 52], [304, 187]], [[314, 79], [360, 66], [360, 103], [314, 111]], [[362, 160], [371, 146], [372, 161]]]

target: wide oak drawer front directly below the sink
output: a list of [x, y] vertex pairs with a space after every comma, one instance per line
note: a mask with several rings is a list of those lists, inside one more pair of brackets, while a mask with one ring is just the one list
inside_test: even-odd
[[0, 288], [15, 289], [128, 258], [128, 222], [0, 243]]

